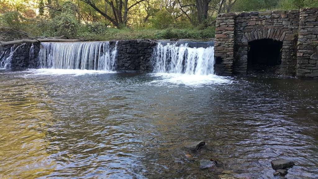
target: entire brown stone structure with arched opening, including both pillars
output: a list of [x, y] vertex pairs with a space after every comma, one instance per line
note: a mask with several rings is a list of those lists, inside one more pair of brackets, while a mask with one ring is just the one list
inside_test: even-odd
[[218, 14], [215, 72], [318, 77], [318, 8]]

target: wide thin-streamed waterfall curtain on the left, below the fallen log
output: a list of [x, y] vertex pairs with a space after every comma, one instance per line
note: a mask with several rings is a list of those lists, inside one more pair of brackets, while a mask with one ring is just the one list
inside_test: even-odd
[[113, 50], [106, 42], [41, 42], [40, 68], [109, 70], [116, 68], [116, 41]]

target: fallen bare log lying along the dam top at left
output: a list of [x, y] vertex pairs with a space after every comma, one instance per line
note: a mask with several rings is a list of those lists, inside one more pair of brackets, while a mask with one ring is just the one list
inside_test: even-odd
[[8, 45], [22, 44], [22, 43], [37, 43], [37, 42], [82, 42], [83, 39], [21, 39], [13, 41], [0, 41], [0, 47], [5, 47]]

